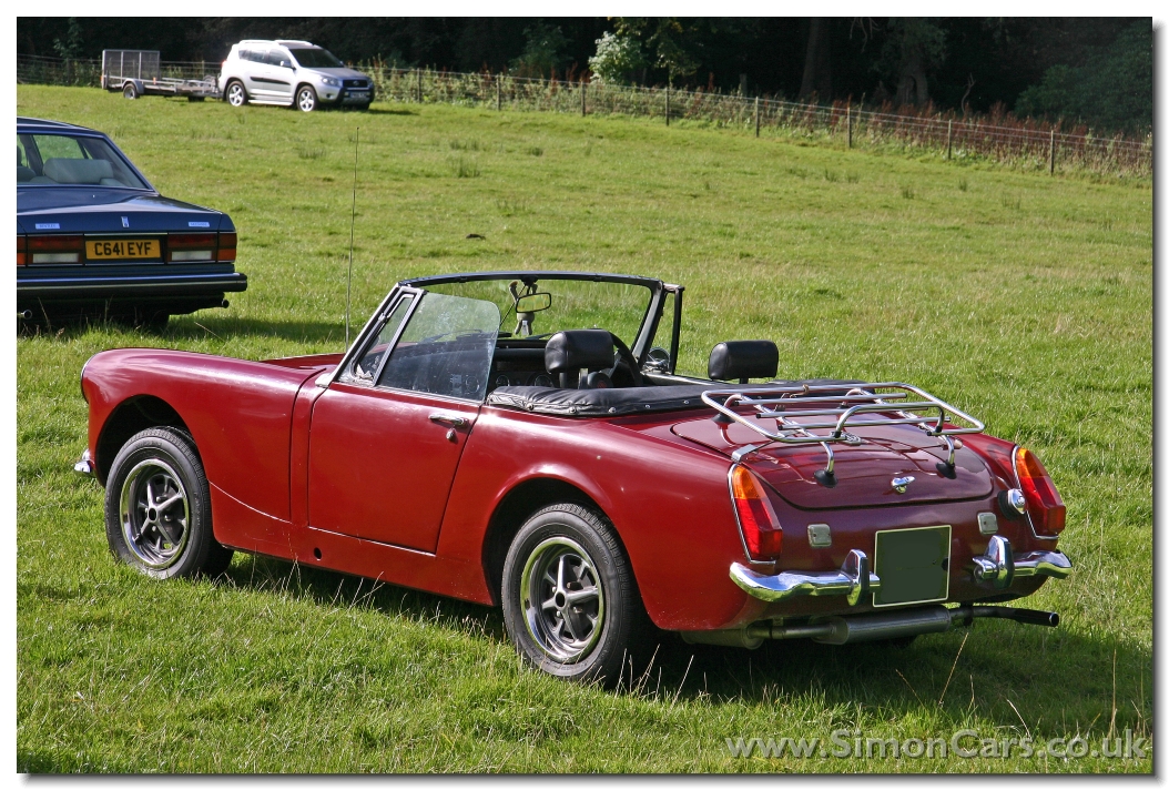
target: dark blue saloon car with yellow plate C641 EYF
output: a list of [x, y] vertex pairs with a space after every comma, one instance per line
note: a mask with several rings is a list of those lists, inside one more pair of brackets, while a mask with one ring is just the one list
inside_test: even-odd
[[109, 137], [16, 118], [16, 310], [164, 326], [248, 287], [231, 217], [164, 198]]

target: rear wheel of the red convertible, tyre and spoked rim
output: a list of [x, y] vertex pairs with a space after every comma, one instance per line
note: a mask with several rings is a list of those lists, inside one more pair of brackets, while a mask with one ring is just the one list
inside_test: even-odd
[[615, 685], [650, 624], [629, 559], [604, 517], [580, 505], [537, 512], [504, 561], [504, 623], [520, 657], [548, 674]]

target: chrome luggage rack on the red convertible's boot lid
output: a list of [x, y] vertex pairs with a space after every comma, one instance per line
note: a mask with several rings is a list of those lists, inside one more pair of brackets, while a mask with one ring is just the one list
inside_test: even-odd
[[[746, 425], [767, 441], [739, 448], [731, 458], [738, 463], [746, 456], [761, 450], [773, 442], [783, 444], [821, 444], [828, 453], [828, 464], [816, 472], [816, 479], [829, 487], [836, 485], [833, 476], [835, 457], [832, 444], [862, 444], [863, 439], [846, 429], [876, 428], [878, 425], [916, 425], [929, 436], [945, 444], [947, 459], [939, 464], [939, 472], [946, 477], [954, 474], [953, 436], [981, 434], [985, 428], [981, 422], [960, 409], [934, 397], [924, 389], [899, 382], [852, 384], [844, 395], [841, 390], [849, 384], [801, 384], [760, 386], [758, 388], [708, 389], [701, 394], [703, 402], [713, 408], [715, 422], [736, 422]], [[733, 407], [750, 407], [755, 410], [748, 418]], [[791, 407], [797, 407], [789, 410]], [[927, 411], [932, 414], [916, 414]], [[859, 415], [880, 415], [857, 418]], [[890, 416], [893, 415], [893, 416]], [[826, 420], [812, 420], [826, 417]], [[797, 420], [798, 418], [798, 420]], [[768, 430], [760, 420], [775, 420], [776, 430]], [[967, 427], [955, 425], [959, 420]], [[947, 427], [946, 423], [950, 423]], [[812, 431], [823, 430], [825, 434]]]

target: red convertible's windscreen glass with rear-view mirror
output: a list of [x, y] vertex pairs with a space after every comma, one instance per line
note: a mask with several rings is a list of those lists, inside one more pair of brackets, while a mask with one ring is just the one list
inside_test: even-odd
[[[499, 307], [500, 338], [551, 337], [563, 330], [608, 330], [632, 346], [649, 311], [652, 292], [644, 285], [576, 279], [489, 279], [426, 285], [436, 293], [485, 299]], [[539, 294], [548, 294], [542, 297]], [[520, 310], [517, 310], [519, 303]], [[525, 306], [544, 310], [524, 311]]]

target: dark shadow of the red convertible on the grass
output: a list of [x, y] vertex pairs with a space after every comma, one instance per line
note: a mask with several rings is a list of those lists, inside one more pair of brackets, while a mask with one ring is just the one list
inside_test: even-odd
[[[323, 607], [368, 607], [387, 617], [509, 642], [497, 608], [319, 568], [245, 557], [231, 566], [226, 581]], [[980, 621], [973, 629], [924, 635], [901, 646], [791, 640], [765, 642], [756, 650], [691, 645], [665, 631], [652, 636], [648, 654], [635, 657], [632, 670], [610, 693], [665, 706], [689, 701], [765, 711], [803, 708], [802, 718], [826, 722], [824, 739], [833, 729], [863, 728], [874, 718], [913, 716], [924, 726], [945, 723], [955, 729], [981, 719], [1021, 734], [1039, 726], [1065, 727], [1064, 722], [1074, 722], [1067, 726], [1075, 729], [1102, 721], [1108, 729], [1113, 720], [1118, 732], [1135, 730], [1151, 719], [1151, 697], [1144, 691], [1151, 688], [1150, 652], [1130, 643], [1106, 644], [1066, 628]], [[726, 733], [765, 739], [783, 734]]]

